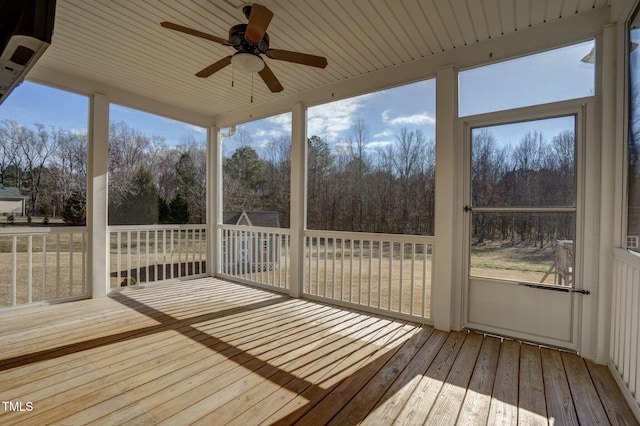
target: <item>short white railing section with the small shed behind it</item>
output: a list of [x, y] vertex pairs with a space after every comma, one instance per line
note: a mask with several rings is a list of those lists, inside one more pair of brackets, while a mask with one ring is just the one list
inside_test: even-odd
[[219, 225], [218, 232], [219, 275], [280, 291], [289, 289], [288, 229]]

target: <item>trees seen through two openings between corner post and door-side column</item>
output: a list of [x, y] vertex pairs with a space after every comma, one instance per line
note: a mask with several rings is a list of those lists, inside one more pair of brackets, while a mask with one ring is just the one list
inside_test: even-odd
[[[224, 159], [224, 208], [277, 211], [289, 226], [290, 138], [270, 140], [262, 155], [250, 135], [236, 141]], [[435, 143], [420, 129], [380, 145], [356, 120], [346, 137], [307, 139], [309, 229], [432, 235], [434, 201]]]

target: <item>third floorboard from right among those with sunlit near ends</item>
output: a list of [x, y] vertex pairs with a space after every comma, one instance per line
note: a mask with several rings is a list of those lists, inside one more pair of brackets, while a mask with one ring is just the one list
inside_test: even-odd
[[482, 341], [478, 360], [458, 414], [458, 425], [487, 424], [491, 393], [500, 357], [500, 344], [500, 340], [495, 337], [485, 337]]

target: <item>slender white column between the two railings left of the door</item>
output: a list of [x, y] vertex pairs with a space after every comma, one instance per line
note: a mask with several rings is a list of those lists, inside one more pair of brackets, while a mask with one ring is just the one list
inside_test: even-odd
[[297, 103], [291, 116], [291, 282], [289, 294], [300, 297], [304, 286], [304, 230], [307, 227], [307, 110]]

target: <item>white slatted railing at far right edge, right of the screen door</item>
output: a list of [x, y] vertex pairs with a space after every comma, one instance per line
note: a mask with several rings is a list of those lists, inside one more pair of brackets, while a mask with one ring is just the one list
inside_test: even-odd
[[640, 256], [614, 252], [609, 365], [640, 415]]

